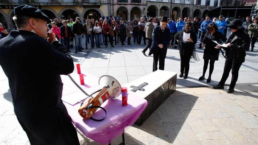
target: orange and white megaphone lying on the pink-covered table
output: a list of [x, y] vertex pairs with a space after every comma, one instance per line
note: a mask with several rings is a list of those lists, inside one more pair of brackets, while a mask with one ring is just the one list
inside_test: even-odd
[[[99, 86], [101, 89], [93, 92], [91, 95], [98, 93], [94, 98], [87, 98], [82, 103], [78, 112], [84, 119], [92, 119], [95, 121], [101, 121], [92, 118], [91, 116], [96, 112], [98, 108], [106, 110], [100, 107], [108, 98], [113, 97], [116, 98], [121, 94], [121, 85], [120, 83], [113, 78], [112, 76], [104, 75], [99, 78]], [[102, 119], [104, 120], [104, 118]]]

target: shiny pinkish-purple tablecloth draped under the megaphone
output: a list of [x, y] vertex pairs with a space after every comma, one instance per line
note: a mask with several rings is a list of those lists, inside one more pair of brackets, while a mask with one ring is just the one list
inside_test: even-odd
[[[86, 88], [84, 88], [84, 90], [87, 91]], [[142, 111], [146, 108], [147, 101], [136, 95], [128, 94], [128, 106], [122, 106], [122, 98], [117, 100], [109, 98], [101, 105], [101, 107], [106, 109], [107, 116], [100, 122], [83, 119], [78, 113], [80, 103], [71, 105], [64, 102], [64, 104], [74, 125], [86, 137], [101, 144], [108, 144], [111, 143], [116, 136], [121, 135], [125, 127], [134, 124]], [[104, 116], [105, 112], [102, 109], [98, 109], [92, 117], [101, 119]]]

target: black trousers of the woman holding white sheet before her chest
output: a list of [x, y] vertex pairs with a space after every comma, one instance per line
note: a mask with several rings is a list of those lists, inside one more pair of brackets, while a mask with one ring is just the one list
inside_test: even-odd
[[188, 76], [189, 73], [189, 62], [191, 59], [192, 53], [188, 54], [180, 54], [180, 59], [181, 59], [181, 67], [180, 67], [180, 73], [184, 74], [185, 76]]

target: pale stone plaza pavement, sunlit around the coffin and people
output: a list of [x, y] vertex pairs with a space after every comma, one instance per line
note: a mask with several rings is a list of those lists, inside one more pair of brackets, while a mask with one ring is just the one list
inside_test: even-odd
[[[131, 40], [132, 41], [132, 40]], [[85, 48], [85, 39], [82, 41]], [[125, 44], [127, 44], [125, 42]], [[256, 44], [258, 45], [258, 44]], [[101, 49], [71, 53], [74, 65], [81, 64], [82, 72], [94, 76], [105, 74], [115, 77], [121, 85], [152, 72], [152, 56], [144, 56], [145, 45], [123, 45], [121, 43]], [[225, 145], [258, 144], [258, 47], [247, 51], [245, 62], [240, 67], [237, 83], [250, 83], [235, 87], [235, 93], [205, 88], [177, 89], [143, 124], [128, 127], [125, 143], [134, 145]], [[74, 49], [71, 49], [74, 52]], [[220, 54], [215, 62], [212, 80], [198, 81], [203, 69], [203, 49], [196, 45], [200, 62], [191, 59], [188, 79], [177, 79], [177, 87], [215, 85], [220, 81], [225, 59]], [[149, 51], [146, 52], [148, 54]], [[35, 54], [36, 55], [36, 54]], [[75, 67], [76, 68], [76, 67]], [[179, 50], [169, 48], [165, 59], [165, 70], [180, 73]], [[76, 71], [76, 69], [74, 70]], [[227, 80], [230, 83], [231, 74]], [[86, 80], [85, 80], [86, 81]], [[63, 82], [71, 83], [71, 82]], [[253, 84], [252, 84], [253, 83]], [[81, 144], [98, 145], [78, 130]], [[112, 144], [119, 144], [121, 136]], [[28, 138], [18, 124], [13, 112], [12, 99], [6, 78], [0, 69], [0, 145], [28, 145]]]

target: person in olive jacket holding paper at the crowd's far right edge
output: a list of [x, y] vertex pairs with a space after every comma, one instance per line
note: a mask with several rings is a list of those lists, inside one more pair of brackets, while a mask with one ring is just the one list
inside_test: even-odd
[[[254, 23], [249, 24], [248, 26], [248, 34], [251, 38], [251, 51], [254, 51], [254, 44], [257, 40], [258, 35], [258, 25], [257, 25], [258, 18], [254, 18]], [[249, 49], [249, 48], [248, 48]]]

